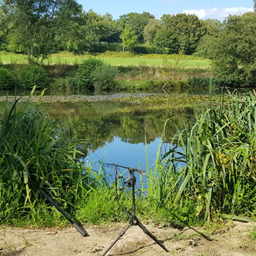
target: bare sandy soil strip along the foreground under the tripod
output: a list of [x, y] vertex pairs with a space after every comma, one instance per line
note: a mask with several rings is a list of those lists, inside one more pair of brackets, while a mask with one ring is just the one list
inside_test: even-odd
[[[127, 223], [110, 227], [84, 225], [89, 237], [82, 237], [75, 228], [28, 229], [0, 227], [1, 256], [86, 256], [102, 255]], [[139, 227], [131, 227], [107, 255], [191, 255], [191, 256], [242, 256], [256, 255], [256, 243], [249, 234], [255, 223], [234, 221], [216, 230], [209, 228], [155, 227], [146, 225], [169, 253], [158, 246]], [[201, 234], [200, 234], [201, 232]], [[207, 236], [202, 236], [202, 233]]]

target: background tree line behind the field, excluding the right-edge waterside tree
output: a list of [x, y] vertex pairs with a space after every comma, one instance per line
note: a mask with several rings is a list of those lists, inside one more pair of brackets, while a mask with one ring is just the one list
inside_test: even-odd
[[217, 36], [222, 28], [219, 20], [183, 13], [157, 20], [148, 12], [134, 12], [114, 20], [109, 13], [84, 12], [76, 0], [3, 0], [0, 17], [1, 49], [26, 52], [29, 60], [56, 51], [106, 49], [193, 54], [205, 35]]

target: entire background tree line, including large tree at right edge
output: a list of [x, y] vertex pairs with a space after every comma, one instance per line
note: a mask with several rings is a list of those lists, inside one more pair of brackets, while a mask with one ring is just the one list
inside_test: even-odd
[[[256, 1], [253, 1], [256, 8]], [[26, 53], [41, 63], [53, 52], [133, 51], [196, 54], [212, 59], [226, 84], [256, 84], [256, 12], [229, 15], [223, 22], [196, 15], [127, 13], [114, 20], [76, 0], [3, 0], [0, 49]]]

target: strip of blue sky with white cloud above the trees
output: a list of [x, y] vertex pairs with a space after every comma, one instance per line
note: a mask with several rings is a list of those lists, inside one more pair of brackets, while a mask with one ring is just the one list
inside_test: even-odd
[[163, 14], [193, 13], [200, 19], [223, 20], [229, 14], [252, 12], [253, 0], [77, 0], [85, 11], [111, 13], [113, 19], [130, 12], [149, 12], [159, 19]]

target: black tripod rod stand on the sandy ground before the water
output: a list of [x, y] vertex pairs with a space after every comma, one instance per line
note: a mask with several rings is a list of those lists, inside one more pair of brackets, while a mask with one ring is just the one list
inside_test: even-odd
[[[137, 170], [134, 168], [129, 168], [129, 167], [125, 167], [125, 166], [121, 166], [118, 164], [108, 164], [111, 166], [115, 166], [115, 186], [116, 186], [116, 197], [115, 200], [116, 202], [118, 202], [118, 205], [122, 208], [122, 210], [124, 211], [124, 213], [128, 216], [128, 218], [130, 219], [130, 223], [129, 225], [120, 233], [120, 235], [118, 237], [116, 237], [115, 241], [113, 241], [113, 243], [109, 246], [109, 248], [102, 254], [102, 256], [106, 255], [109, 250], [115, 245], [115, 243], [122, 237], [124, 236], [125, 232], [132, 226], [138, 226], [140, 227], [143, 232], [145, 234], [147, 234], [151, 239], [153, 239], [159, 246], [161, 246], [161, 248], [163, 248], [163, 250], [165, 252], [169, 252], [168, 249], [164, 246], [164, 244], [162, 244], [149, 230], [147, 230], [147, 228], [140, 222], [140, 220], [138, 220], [135, 211], [136, 211], [136, 205], [135, 205], [135, 184], [136, 184], [136, 177], [134, 175], [134, 172], [138, 172], [141, 174], [145, 174], [145, 171], [143, 170]], [[129, 170], [129, 179], [127, 179], [126, 182], [124, 182], [124, 184], [127, 184], [127, 186], [129, 188], [132, 188], [132, 214], [127, 211], [127, 209], [125, 209], [125, 207], [119, 202], [119, 198], [118, 198], [118, 188], [117, 188], [117, 181], [118, 179], [124, 179], [123, 176], [117, 177], [117, 170], [118, 167], [120, 168], [125, 168]], [[121, 189], [122, 190], [122, 189]]]

